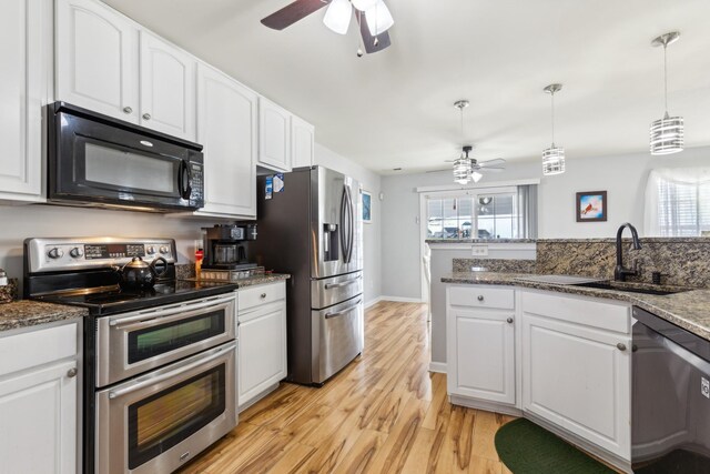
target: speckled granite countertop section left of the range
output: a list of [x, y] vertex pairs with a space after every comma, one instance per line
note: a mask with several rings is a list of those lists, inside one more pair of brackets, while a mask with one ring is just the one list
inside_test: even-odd
[[20, 300], [0, 304], [0, 332], [54, 321], [84, 317], [88, 314], [89, 311], [85, 307]]

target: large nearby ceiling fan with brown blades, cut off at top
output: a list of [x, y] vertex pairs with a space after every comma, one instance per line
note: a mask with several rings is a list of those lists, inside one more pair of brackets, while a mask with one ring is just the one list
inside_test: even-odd
[[[262, 19], [262, 24], [281, 31], [325, 6], [328, 8], [323, 22], [338, 34], [347, 33], [353, 11], [355, 11], [359, 34], [363, 38], [365, 52], [368, 54], [382, 51], [392, 44], [387, 30], [394, 24], [394, 19], [383, 0], [295, 0]], [[363, 56], [359, 47], [357, 56]]]

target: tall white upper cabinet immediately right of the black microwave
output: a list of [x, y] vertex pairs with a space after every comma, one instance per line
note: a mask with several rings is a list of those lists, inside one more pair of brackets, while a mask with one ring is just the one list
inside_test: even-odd
[[256, 218], [258, 95], [197, 67], [197, 142], [204, 145], [205, 204], [197, 214]]

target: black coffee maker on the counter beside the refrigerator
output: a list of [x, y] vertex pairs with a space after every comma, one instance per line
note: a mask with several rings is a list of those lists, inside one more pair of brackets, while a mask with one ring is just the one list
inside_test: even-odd
[[250, 263], [248, 241], [256, 240], [256, 224], [217, 224], [204, 228], [203, 269], [248, 270], [256, 268]]

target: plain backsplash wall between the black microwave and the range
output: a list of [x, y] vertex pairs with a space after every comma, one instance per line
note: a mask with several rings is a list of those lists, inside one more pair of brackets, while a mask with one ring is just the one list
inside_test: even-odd
[[0, 205], [0, 268], [22, 280], [22, 242], [40, 236], [172, 238], [179, 263], [194, 260], [200, 228], [213, 221], [168, 218], [162, 214], [59, 205]]

